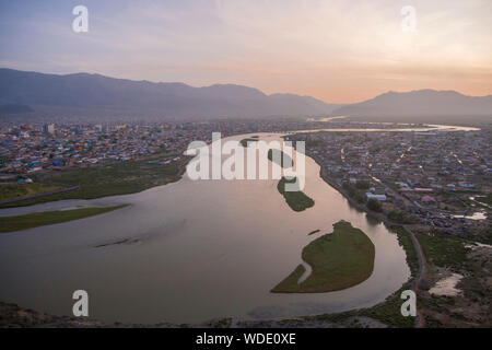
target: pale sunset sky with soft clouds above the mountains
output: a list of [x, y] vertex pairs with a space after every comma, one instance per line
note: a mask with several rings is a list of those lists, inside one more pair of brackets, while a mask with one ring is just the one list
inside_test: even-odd
[[[75, 5], [89, 32], [75, 33]], [[414, 9], [414, 31], [403, 7]], [[354, 103], [492, 94], [491, 0], [0, 0], [0, 67]], [[408, 25], [406, 26], [408, 28]]]

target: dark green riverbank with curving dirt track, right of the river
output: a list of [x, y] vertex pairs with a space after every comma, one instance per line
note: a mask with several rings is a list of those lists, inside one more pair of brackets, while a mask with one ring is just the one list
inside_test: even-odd
[[[311, 155], [318, 165], [319, 161]], [[336, 188], [352, 207], [368, 217], [384, 222], [393, 232], [407, 254], [407, 261], [412, 270], [412, 278], [401, 290], [389, 296], [386, 302], [367, 310], [341, 314], [316, 316], [317, 319], [348, 319], [352, 315], [372, 315], [379, 320], [397, 327], [490, 327], [492, 318], [492, 290], [490, 281], [490, 260], [492, 249], [475, 245], [473, 241], [464, 238], [420, 224], [405, 226], [393, 222], [382, 212], [375, 212], [349, 196], [342, 186], [331, 180], [320, 166], [321, 178]], [[479, 237], [477, 237], [479, 238]], [[473, 246], [473, 249], [466, 249]], [[440, 281], [458, 273], [464, 276], [456, 285], [456, 295], [435, 295], [430, 292]], [[418, 295], [418, 317], [411, 325], [399, 315], [401, 301], [399, 293], [412, 289]]]

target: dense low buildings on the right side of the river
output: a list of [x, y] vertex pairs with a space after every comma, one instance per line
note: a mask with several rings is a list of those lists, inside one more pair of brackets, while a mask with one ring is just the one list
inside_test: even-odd
[[492, 190], [491, 131], [313, 132], [290, 139], [306, 140], [323, 176], [339, 188], [353, 185], [361, 203], [376, 199], [386, 213], [405, 212], [434, 228], [487, 225], [491, 208], [476, 199]]

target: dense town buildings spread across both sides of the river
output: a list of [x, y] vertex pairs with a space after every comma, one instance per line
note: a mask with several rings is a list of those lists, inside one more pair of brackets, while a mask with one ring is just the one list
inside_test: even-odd
[[[152, 154], [183, 154], [191, 141], [210, 142], [250, 132], [285, 132], [321, 128], [395, 128], [330, 120], [246, 119], [160, 124], [10, 125], [0, 126], [0, 176], [40, 170], [99, 166], [108, 162], [145, 159]], [[377, 200], [384, 212], [405, 212], [418, 222], [466, 231], [480, 225], [491, 210], [478, 202], [492, 189], [492, 131], [337, 131], [290, 133], [306, 141], [306, 153], [321, 166], [321, 175], [342, 189], [349, 184], [358, 201]], [[360, 184], [367, 186], [360, 186]], [[484, 215], [477, 217], [477, 212]], [[470, 219], [470, 220], [469, 220]], [[490, 219], [488, 219], [490, 220]], [[482, 220], [483, 221], [483, 220]]]

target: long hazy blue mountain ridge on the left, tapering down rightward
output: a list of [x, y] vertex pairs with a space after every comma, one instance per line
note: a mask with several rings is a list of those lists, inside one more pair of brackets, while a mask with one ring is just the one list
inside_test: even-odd
[[341, 106], [307, 96], [266, 95], [241, 85], [192, 88], [98, 74], [56, 75], [11, 69], [0, 69], [0, 102], [28, 105], [36, 110], [38, 106], [67, 107], [188, 118], [327, 115]]

